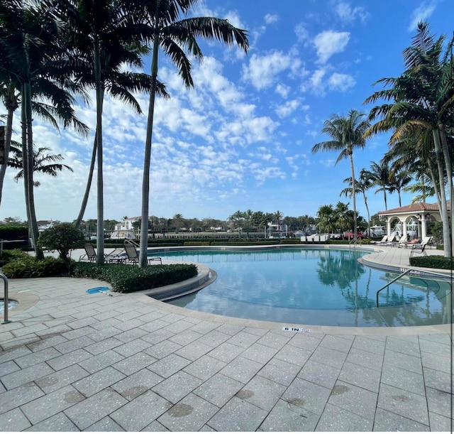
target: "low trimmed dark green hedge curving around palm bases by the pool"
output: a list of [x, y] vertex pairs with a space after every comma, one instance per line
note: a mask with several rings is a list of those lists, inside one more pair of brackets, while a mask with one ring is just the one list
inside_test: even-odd
[[89, 262], [78, 262], [74, 266], [74, 276], [109, 282], [113, 291], [118, 293], [132, 293], [171, 285], [192, 278], [197, 273], [197, 267], [194, 264], [154, 265], [139, 268], [130, 264], [99, 266]]

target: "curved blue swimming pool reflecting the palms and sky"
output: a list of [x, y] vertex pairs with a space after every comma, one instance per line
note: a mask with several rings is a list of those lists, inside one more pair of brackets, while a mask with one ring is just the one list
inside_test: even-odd
[[358, 262], [356, 249], [169, 251], [172, 261], [213, 268], [218, 278], [168, 303], [237, 318], [288, 324], [398, 327], [450, 322], [450, 283], [398, 275]]

